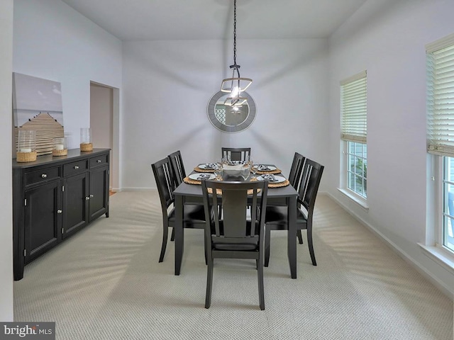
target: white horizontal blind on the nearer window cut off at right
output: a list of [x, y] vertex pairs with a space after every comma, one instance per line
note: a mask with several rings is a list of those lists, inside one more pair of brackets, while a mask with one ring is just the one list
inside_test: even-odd
[[427, 151], [454, 157], [454, 34], [426, 45]]

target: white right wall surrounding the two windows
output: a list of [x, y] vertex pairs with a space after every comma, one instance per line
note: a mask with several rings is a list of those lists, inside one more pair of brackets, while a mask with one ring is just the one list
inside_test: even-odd
[[[326, 188], [446, 293], [454, 275], [423, 254], [426, 237], [426, 55], [428, 42], [454, 33], [454, 1], [369, 0], [330, 39], [330, 162]], [[367, 70], [367, 203], [337, 191], [339, 81]]]

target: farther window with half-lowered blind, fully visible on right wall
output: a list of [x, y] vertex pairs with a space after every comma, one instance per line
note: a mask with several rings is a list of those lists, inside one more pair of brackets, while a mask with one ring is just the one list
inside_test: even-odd
[[367, 198], [367, 74], [341, 81], [341, 187], [360, 201]]

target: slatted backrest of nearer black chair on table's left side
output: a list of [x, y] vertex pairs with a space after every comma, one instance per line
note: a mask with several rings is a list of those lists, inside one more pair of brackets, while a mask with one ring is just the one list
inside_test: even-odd
[[167, 208], [175, 201], [175, 179], [171, 169], [169, 157], [151, 164], [157, 186], [157, 192], [161, 200], [162, 214], [167, 216]]

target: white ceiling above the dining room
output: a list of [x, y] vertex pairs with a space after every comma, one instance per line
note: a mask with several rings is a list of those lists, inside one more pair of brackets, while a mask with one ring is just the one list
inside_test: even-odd
[[[62, 0], [121, 40], [227, 39], [233, 0]], [[238, 0], [237, 38], [327, 38], [366, 0]]]

